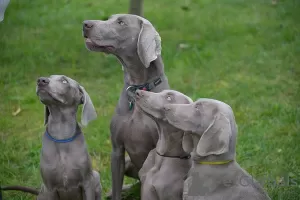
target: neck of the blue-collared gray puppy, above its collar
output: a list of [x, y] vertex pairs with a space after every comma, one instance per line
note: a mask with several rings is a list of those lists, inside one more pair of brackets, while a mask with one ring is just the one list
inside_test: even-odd
[[48, 106], [48, 109], [48, 133], [58, 140], [74, 136], [79, 128], [76, 120], [77, 108]]

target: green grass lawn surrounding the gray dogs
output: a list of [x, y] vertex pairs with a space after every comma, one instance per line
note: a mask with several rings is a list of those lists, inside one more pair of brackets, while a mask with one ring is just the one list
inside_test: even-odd
[[[0, 23], [0, 184], [39, 187], [43, 106], [39, 76], [65, 74], [89, 92], [99, 118], [84, 128], [104, 193], [111, 187], [109, 122], [122, 87], [113, 56], [86, 50], [85, 19], [125, 13], [128, 0], [14, 0]], [[162, 37], [173, 89], [232, 106], [237, 161], [273, 200], [300, 198], [300, 2], [145, 1]], [[184, 47], [184, 48], [183, 48]], [[18, 107], [21, 112], [14, 116]], [[127, 179], [126, 182], [132, 182]], [[136, 189], [138, 191], [138, 189]], [[4, 199], [32, 199], [4, 192]], [[131, 199], [139, 199], [133, 192]]]

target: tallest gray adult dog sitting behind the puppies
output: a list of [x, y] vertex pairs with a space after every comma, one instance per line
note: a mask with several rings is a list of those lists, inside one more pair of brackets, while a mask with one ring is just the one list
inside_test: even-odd
[[[124, 173], [138, 179], [148, 153], [158, 140], [156, 123], [134, 106], [134, 92], [169, 88], [161, 58], [161, 40], [152, 24], [139, 16], [112, 15], [83, 22], [86, 47], [115, 55], [124, 70], [124, 86], [111, 120], [112, 199], [121, 199]], [[125, 150], [129, 154], [125, 164]]]

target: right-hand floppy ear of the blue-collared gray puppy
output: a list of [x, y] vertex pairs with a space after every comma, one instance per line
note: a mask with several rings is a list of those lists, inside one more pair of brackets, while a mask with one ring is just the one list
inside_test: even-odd
[[85, 91], [84, 87], [80, 86], [80, 91], [82, 92], [82, 113], [81, 113], [81, 124], [86, 126], [88, 123], [94, 119], [97, 118], [97, 113], [94, 108], [93, 102], [88, 95], [88, 93]]

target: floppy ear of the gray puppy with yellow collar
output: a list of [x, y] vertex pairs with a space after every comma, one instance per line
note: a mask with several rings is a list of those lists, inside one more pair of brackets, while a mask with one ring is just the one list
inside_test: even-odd
[[226, 153], [229, 150], [230, 137], [230, 121], [225, 115], [219, 113], [202, 134], [196, 152], [200, 156]]

